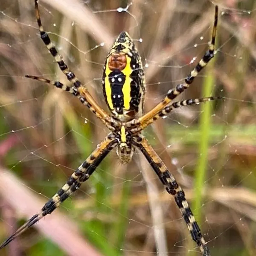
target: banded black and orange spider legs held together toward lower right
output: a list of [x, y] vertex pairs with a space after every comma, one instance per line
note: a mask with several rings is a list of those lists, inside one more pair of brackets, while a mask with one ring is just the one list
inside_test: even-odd
[[177, 184], [175, 178], [169, 172], [163, 161], [160, 159], [160, 157], [158, 157], [157, 153], [154, 151], [151, 145], [148, 144], [148, 141], [142, 135], [140, 135], [140, 137], [136, 137], [134, 145], [144, 154], [148, 160], [148, 163], [151, 165], [160, 181], [166, 187], [166, 191], [170, 195], [174, 196], [175, 202], [182, 213], [183, 219], [186, 222], [192, 239], [198, 244], [198, 247], [204, 256], [210, 256], [206, 241], [204, 240], [195, 217], [189, 208], [189, 204], [186, 201], [184, 191]]

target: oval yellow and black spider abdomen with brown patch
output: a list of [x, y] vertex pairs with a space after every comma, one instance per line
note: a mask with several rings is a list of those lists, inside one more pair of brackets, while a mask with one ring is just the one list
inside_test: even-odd
[[102, 85], [105, 101], [114, 116], [127, 121], [143, 113], [144, 71], [127, 32], [119, 35], [108, 54]]

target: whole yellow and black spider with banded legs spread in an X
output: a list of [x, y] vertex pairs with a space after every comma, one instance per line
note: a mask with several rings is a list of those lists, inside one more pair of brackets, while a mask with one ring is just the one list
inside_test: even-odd
[[69, 70], [62, 56], [52, 44], [41, 23], [38, 0], [35, 0], [35, 13], [41, 39], [51, 55], [55, 58], [61, 71], [66, 75], [67, 80], [73, 85], [67, 86], [59, 81], [51, 81], [38, 76], [26, 75], [26, 77], [52, 84], [55, 87], [71, 93], [73, 96], [77, 97], [83, 105], [89, 108], [111, 132], [76, 171], [73, 172], [69, 180], [67, 180], [67, 183], [47, 201], [41, 211], [33, 215], [32, 218], [23, 224], [12, 236], [4, 241], [0, 249], [9, 244], [45, 215], [52, 213], [59, 207], [64, 200], [79, 189], [84, 181], [88, 180], [99, 163], [101, 163], [113, 148], [116, 148], [117, 155], [123, 164], [131, 161], [134, 150], [137, 148], [144, 154], [161, 183], [165, 186], [166, 191], [174, 196], [175, 203], [180, 209], [192, 239], [198, 245], [204, 256], [210, 256], [207, 242], [204, 240], [201, 230], [186, 201], [183, 189], [177, 184], [173, 175], [169, 172], [166, 165], [141, 132], [152, 122], [170, 113], [175, 108], [221, 98], [207, 97], [173, 102], [180, 93], [189, 87], [198, 73], [207, 65], [210, 59], [214, 57], [218, 6], [215, 6], [214, 24], [209, 49], [205, 52], [203, 58], [189, 73], [186, 79], [184, 79], [183, 83], [169, 90], [165, 98], [151, 109], [151, 111], [145, 114], [143, 114], [143, 103], [145, 99], [143, 64], [137, 48], [127, 32], [121, 32], [116, 38], [116, 41], [113, 43], [108, 53], [103, 70], [102, 87], [105, 102], [111, 112], [109, 115], [99, 107], [88, 90], [82, 86], [75, 74]]

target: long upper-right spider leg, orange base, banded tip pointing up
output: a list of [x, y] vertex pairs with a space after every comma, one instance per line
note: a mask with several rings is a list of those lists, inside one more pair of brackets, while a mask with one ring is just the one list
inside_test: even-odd
[[[137, 122], [136, 125], [141, 125], [143, 122], [147, 122], [149, 119], [153, 119], [154, 116], [162, 111], [167, 105], [169, 105], [170, 102], [172, 102], [173, 99], [175, 99], [180, 93], [183, 93], [184, 90], [186, 90], [190, 84], [192, 84], [195, 77], [198, 75], [198, 73], [207, 65], [207, 63], [214, 57], [214, 48], [215, 48], [215, 37], [216, 37], [216, 31], [217, 31], [217, 23], [218, 23], [218, 6], [215, 6], [215, 14], [214, 14], [214, 24], [212, 29], [212, 40], [209, 43], [209, 49], [207, 52], [205, 52], [203, 58], [198, 62], [198, 64], [195, 66], [195, 68], [189, 73], [189, 75], [186, 77], [184, 82], [182, 84], [178, 84], [175, 89], [171, 89], [168, 91], [166, 97], [157, 104], [151, 111], [141, 116]], [[131, 123], [131, 126], [133, 124]]]

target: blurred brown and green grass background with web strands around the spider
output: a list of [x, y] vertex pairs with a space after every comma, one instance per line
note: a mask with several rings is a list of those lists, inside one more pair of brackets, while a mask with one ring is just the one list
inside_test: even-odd
[[[214, 6], [199, 0], [44, 0], [39, 9], [53, 43], [103, 108], [105, 56], [127, 30], [142, 55], [148, 111], [203, 56]], [[255, 10], [254, 1], [221, 1], [215, 58], [179, 98], [224, 99], [210, 108], [178, 109], [143, 132], [185, 190], [212, 255], [254, 255], [256, 246]], [[38, 36], [33, 1], [6, 1], [0, 20], [3, 241], [63, 186], [108, 129], [77, 99], [23, 78], [67, 82]], [[26, 255], [198, 252], [144, 157], [136, 152], [123, 166], [115, 151], [60, 209], [8, 248]]]

